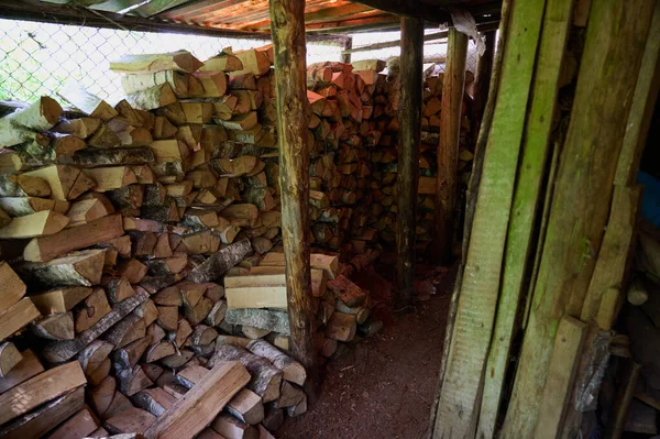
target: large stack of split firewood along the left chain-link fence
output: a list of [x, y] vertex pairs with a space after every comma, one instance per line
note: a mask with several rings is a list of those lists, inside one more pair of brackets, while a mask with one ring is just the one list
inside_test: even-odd
[[[114, 107], [69, 84], [75, 109], [44, 97], [0, 119], [13, 166], [0, 175], [0, 436], [267, 435], [307, 409], [286, 354], [268, 48], [111, 68], [127, 92]], [[380, 254], [355, 206], [381, 76], [315, 68], [311, 294], [329, 358], [382, 325], [349, 279]]]

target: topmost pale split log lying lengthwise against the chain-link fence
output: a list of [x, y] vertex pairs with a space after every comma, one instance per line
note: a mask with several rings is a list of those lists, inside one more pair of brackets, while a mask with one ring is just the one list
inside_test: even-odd
[[163, 70], [194, 73], [204, 63], [187, 51], [165, 54], [124, 55], [110, 62], [110, 70], [123, 74], [145, 74]]

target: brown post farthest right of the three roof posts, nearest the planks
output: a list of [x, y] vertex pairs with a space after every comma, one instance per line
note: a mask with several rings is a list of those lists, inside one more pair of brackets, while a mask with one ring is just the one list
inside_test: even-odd
[[457, 198], [459, 139], [466, 56], [468, 35], [450, 28], [440, 112], [438, 177], [436, 179], [436, 242], [433, 246], [433, 253], [438, 257], [438, 262], [442, 264], [450, 263], [453, 253], [453, 211]]

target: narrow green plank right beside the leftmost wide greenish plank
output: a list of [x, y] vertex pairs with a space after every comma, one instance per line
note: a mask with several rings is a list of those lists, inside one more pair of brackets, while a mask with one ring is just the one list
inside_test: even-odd
[[548, 114], [554, 113], [557, 105], [558, 80], [571, 25], [572, 7], [573, 0], [548, 0], [543, 15], [532, 99], [522, 141], [522, 158], [507, 231], [497, 317], [484, 375], [480, 437], [494, 437], [497, 425], [518, 305], [524, 294], [524, 279], [530, 268], [529, 250], [552, 129], [552, 118]]

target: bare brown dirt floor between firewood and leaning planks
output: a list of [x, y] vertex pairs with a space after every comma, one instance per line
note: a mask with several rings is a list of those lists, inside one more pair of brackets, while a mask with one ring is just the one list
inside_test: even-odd
[[[276, 438], [425, 437], [455, 270], [419, 267], [417, 272], [416, 289], [422, 300], [405, 310], [392, 307], [392, 266], [376, 266], [354, 278], [372, 293], [374, 316], [385, 325], [376, 336], [355, 340], [336, 353], [323, 367], [319, 400], [304, 416], [287, 419]], [[436, 294], [428, 294], [425, 279], [438, 283]]]

